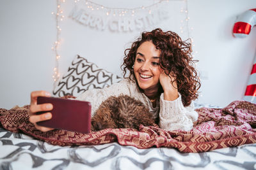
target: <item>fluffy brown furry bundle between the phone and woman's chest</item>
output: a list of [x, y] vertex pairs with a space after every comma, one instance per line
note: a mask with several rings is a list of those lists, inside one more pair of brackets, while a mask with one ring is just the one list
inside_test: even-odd
[[152, 113], [140, 101], [127, 95], [111, 96], [100, 104], [92, 117], [92, 131], [107, 128], [139, 129], [140, 124], [156, 126]]

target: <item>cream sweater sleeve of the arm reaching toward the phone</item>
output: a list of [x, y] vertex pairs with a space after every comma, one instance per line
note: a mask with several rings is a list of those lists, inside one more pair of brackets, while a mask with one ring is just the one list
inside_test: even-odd
[[104, 89], [90, 89], [86, 90], [83, 94], [78, 96], [76, 99], [79, 101], [88, 101], [92, 104], [92, 116], [95, 114], [95, 111], [99, 108], [100, 104], [108, 99], [110, 96], [120, 96], [121, 94], [126, 94], [130, 96], [129, 87], [125, 80], [120, 81], [119, 83], [114, 83], [109, 87]]

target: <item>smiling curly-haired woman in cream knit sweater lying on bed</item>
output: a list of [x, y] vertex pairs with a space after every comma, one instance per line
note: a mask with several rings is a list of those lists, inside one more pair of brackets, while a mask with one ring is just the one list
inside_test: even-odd
[[[159, 118], [162, 129], [189, 131], [198, 118], [192, 103], [200, 87], [194, 62], [191, 44], [182, 41], [175, 32], [161, 29], [143, 32], [141, 38], [125, 50], [121, 66], [124, 80], [104, 89], [87, 90], [77, 100], [90, 101], [93, 115], [108, 97], [125, 94], [144, 103], [154, 118]], [[129, 77], [125, 78], [126, 74]], [[51, 94], [31, 92], [29, 121], [40, 131], [50, 131], [51, 128], [36, 125], [51, 118], [51, 113], [35, 115], [37, 111], [52, 110], [52, 104], [36, 104], [38, 96]]]

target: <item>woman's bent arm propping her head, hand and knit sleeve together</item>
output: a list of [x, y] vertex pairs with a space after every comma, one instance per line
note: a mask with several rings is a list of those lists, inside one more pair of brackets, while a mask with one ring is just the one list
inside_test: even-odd
[[[167, 131], [177, 129], [189, 131], [192, 129], [193, 122], [197, 119], [198, 115], [196, 111], [193, 111], [193, 106], [185, 108], [183, 104], [179, 104], [182, 101], [179, 97], [175, 74], [170, 73], [168, 75], [162, 70], [159, 81], [164, 91], [163, 100], [166, 101], [161, 102], [159, 126]], [[189, 109], [190, 107], [192, 110]], [[171, 110], [171, 108], [175, 108], [176, 111]]]

